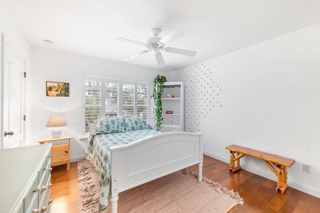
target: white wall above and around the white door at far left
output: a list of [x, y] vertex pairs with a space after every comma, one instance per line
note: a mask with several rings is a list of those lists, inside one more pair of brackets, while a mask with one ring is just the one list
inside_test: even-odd
[[[3, 33], [5, 38], [10, 42], [10, 44], [14, 45], [14, 48], [17, 49], [20, 53], [23, 54], [23, 56], [26, 58], [26, 67], [25, 67], [25, 71], [28, 73], [28, 71], [30, 71], [30, 67], [31, 67], [31, 63], [30, 63], [30, 59], [31, 59], [31, 47], [29, 45], [29, 43], [27, 42], [27, 40], [25, 39], [25, 37], [23, 36], [23, 34], [20, 32], [20, 30], [17, 28], [15, 22], [11, 19], [11, 17], [7, 14], [6, 10], [4, 9], [4, 7], [2, 6], [1, 2], [0, 2], [0, 34]], [[1, 37], [1, 36], [0, 36]], [[2, 58], [2, 46], [0, 43], [0, 64], [1, 64], [1, 58]], [[0, 75], [0, 82], [2, 84], [2, 67], [1, 69], [1, 75]], [[30, 85], [30, 80], [31, 78], [27, 78], [25, 80], [25, 87], [28, 88]], [[0, 86], [0, 94], [2, 94], [1, 91], [1, 86]], [[1, 105], [1, 113], [2, 113], [2, 103], [1, 103], [1, 99], [0, 98], [0, 105]], [[26, 94], [25, 96], [25, 113], [28, 113], [30, 111], [30, 102], [28, 101], [28, 94]], [[0, 113], [0, 129], [3, 130], [2, 127], [2, 119], [1, 119], [1, 113]], [[30, 120], [26, 120], [25, 121], [25, 129], [26, 132], [30, 130]], [[0, 131], [1, 132], [1, 131]], [[2, 140], [2, 136], [0, 137]], [[26, 134], [26, 139], [29, 138], [29, 135]], [[1, 141], [2, 142], [2, 141]]]

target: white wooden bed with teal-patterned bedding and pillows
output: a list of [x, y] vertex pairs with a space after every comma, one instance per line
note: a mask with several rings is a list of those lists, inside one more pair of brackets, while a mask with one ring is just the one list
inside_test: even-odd
[[85, 158], [100, 176], [99, 210], [117, 211], [118, 193], [198, 164], [202, 180], [202, 132], [159, 132], [139, 117], [96, 120]]

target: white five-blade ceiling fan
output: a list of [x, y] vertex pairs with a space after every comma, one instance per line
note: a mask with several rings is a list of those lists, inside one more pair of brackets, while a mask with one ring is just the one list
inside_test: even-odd
[[160, 32], [161, 32], [161, 29], [152, 28], [151, 33], [152, 33], [153, 37], [148, 38], [146, 40], [146, 43], [142, 43], [142, 42], [135, 41], [135, 40], [129, 40], [129, 39], [122, 38], [122, 37], [114, 38], [115, 40], [125, 41], [125, 42], [129, 42], [129, 43], [135, 43], [135, 44], [139, 44], [139, 45], [142, 45], [142, 46], [145, 46], [146, 48], [148, 48], [147, 50], [140, 51], [140, 52], [133, 54], [129, 57], [123, 58], [122, 60], [129, 60], [129, 59], [134, 58], [136, 56], [139, 56], [141, 54], [147, 53], [149, 51], [153, 51], [158, 65], [162, 66], [165, 63], [164, 63], [164, 60], [163, 60], [163, 57], [162, 57], [160, 50], [164, 50], [166, 52], [171, 52], [171, 53], [176, 53], [176, 54], [187, 55], [187, 56], [194, 56], [196, 54], [196, 51], [179, 49], [179, 48], [172, 48], [172, 47], [165, 46], [166, 44], [168, 44], [168, 43], [172, 42], [173, 40], [184, 35], [184, 33], [182, 31], [180, 31], [178, 29], [173, 29], [171, 32], [169, 32], [167, 35], [165, 35], [163, 38], [158, 37]]

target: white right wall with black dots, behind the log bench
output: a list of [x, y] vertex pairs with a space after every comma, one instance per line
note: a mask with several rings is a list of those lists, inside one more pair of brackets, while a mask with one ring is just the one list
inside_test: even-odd
[[[230, 144], [293, 158], [289, 186], [320, 197], [319, 38], [320, 23], [175, 71], [172, 80], [185, 83], [185, 130], [203, 131], [205, 153], [225, 162]], [[276, 180], [261, 160], [240, 161]]]

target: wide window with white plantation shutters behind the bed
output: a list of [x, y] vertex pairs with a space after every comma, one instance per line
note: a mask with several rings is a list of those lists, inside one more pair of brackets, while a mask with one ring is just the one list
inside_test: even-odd
[[101, 117], [148, 118], [146, 82], [84, 76], [83, 133]]

